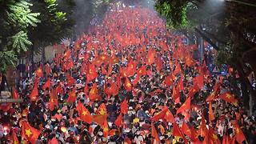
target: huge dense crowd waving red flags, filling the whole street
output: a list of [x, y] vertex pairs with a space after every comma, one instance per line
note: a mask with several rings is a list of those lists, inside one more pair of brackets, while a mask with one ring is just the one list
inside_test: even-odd
[[54, 61], [22, 78], [0, 143], [255, 143], [227, 75], [142, 6], [108, 11]]

